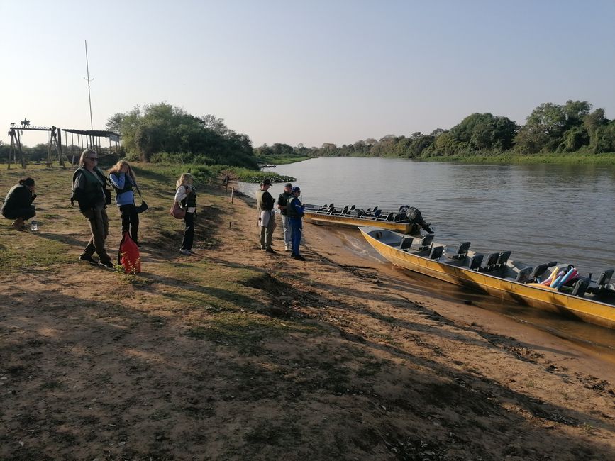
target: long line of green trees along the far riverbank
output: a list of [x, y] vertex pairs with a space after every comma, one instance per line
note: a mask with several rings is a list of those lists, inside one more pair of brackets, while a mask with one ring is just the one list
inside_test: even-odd
[[267, 145], [255, 152], [294, 152], [295, 155], [369, 156], [369, 157], [451, 157], [497, 155], [510, 152], [529, 155], [550, 152], [598, 154], [615, 152], [615, 121], [604, 116], [604, 109], [592, 111], [587, 101], [545, 103], [528, 116], [524, 126], [491, 113], [472, 113], [450, 130], [413, 133], [409, 137], [387, 135], [380, 140], [366, 139], [340, 147], [324, 143], [320, 148], [292, 148], [285, 144]]

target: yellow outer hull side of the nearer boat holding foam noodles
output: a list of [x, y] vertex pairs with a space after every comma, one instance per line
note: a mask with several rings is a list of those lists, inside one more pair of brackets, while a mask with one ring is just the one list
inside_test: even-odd
[[[539, 309], [555, 311], [588, 323], [615, 328], [615, 306], [597, 299], [581, 298], [560, 291], [515, 282], [511, 279], [476, 272], [441, 260], [430, 260], [427, 255], [416, 255], [394, 248], [378, 238], [378, 229], [360, 228], [362, 235], [380, 255], [394, 265], [429, 277], [481, 291], [502, 299], [509, 299]], [[382, 231], [381, 231], [382, 234]], [[384, 235], [383, 235], [384, 237]], [[609, 299], [609, 301], [611, 301]]]

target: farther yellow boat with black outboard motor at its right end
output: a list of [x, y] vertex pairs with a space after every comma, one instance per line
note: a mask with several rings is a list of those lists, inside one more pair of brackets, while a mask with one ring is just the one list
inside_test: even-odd
[[431, 233], [430, 224], [423, 220], [420, 211], [415, 210], [407, 205], [400, 206], [399, 211], [381, 211], [378, 207], [373, 210], [362, 210], [354, 205], [336, 208], [333, 204], [323, 206], [304, 204], [304, 220], [321, 226], [377, 226], [416, 235], [419, 235], [423, 228]]

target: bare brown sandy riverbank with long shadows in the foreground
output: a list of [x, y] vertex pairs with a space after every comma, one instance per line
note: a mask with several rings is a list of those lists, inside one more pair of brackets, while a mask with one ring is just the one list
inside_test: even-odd
[[191, 338], [211, 312], [165, 290], [211, 289], [147, 244], [141, 286], [0, 277], [0, 459], [615, 459], [610, 355], [416, 285], [345, 233], [305, 225], [299, 262], [278, 229], [267, 254], [249, 200], [221, 212], [177, 264], [255, 270], [243, 304], [318, 333]]

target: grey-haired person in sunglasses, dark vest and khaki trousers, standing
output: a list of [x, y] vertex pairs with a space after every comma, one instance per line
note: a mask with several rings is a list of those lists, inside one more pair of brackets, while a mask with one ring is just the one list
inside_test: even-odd
[[90, 264], [99, 264], [92, 255], [98, 253], [100, 264], [113, 268], [111, 257], [105, 250], [105, 240], [109, 235], [109, 216], [105, 206], [105, 178], [96, 166], [96, 150], [86, 149], [79, 158], [79, 169], [74, 179], [72, 195], [79, 203], [79, 211], [89, 221], [92, 237], [89, 239], [79, 259]]

